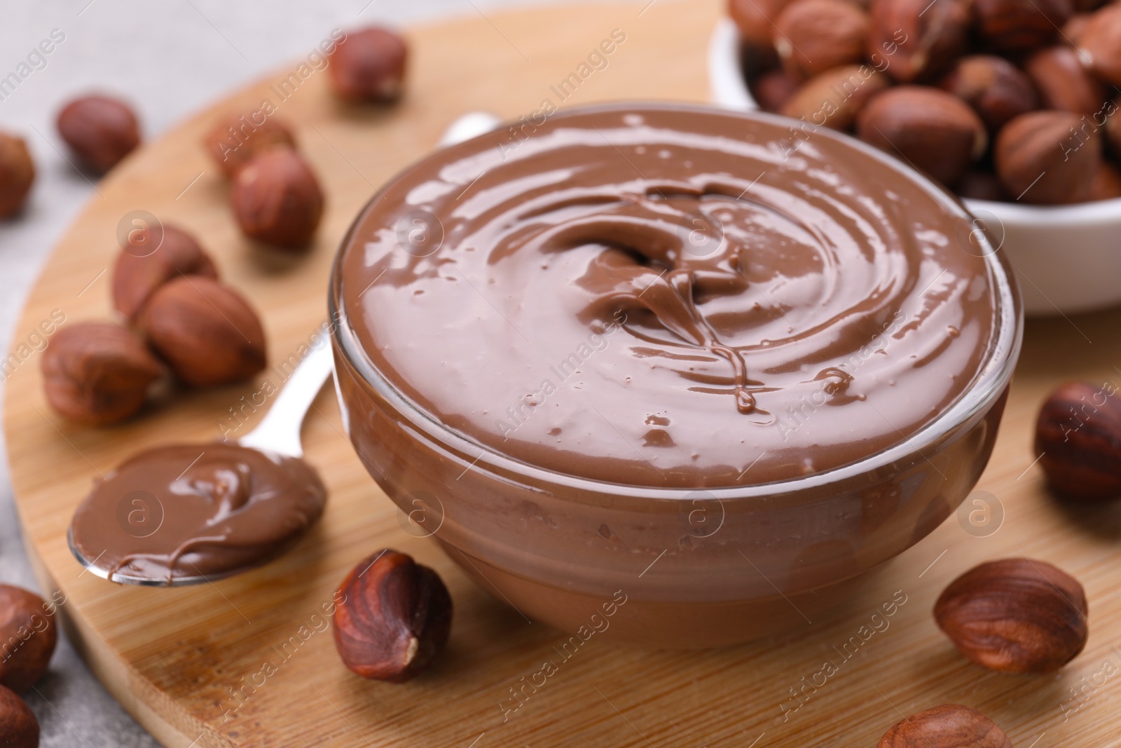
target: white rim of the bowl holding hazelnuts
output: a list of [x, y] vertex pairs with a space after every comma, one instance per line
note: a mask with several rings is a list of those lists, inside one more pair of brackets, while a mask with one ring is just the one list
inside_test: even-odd
[[[708, 76], [713, 101], [734, 111], [762, 112], [751, 94], [740, 65], [740, 31], [731, 18], [716, 21], [708, 41]], [[788, 118], [791, 121], [799, 121]], [[854, 138], [855, 139], [855, 138]], [[1103, 223], [1121, 227], [1121, 197], [1072, 205], [1030, 205], [995, 200], [960, 197], [971, 213], [997, 218], [1018, 227], [1084, 227]]]

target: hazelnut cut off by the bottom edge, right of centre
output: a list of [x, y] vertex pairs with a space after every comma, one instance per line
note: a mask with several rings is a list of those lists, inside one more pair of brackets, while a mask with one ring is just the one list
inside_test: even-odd
[[975, 709], [943, 704], [896, 722], [877, 748], [1012, 748], [997, 723]]

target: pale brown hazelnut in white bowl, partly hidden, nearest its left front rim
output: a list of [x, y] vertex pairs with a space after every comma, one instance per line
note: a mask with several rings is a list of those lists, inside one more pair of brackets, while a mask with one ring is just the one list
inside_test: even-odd
[[856, 114], [889, 81], [868, 65], [844, 65], [812, 77], [782, 105], [787, 117], [834, 130], [849, 130]]

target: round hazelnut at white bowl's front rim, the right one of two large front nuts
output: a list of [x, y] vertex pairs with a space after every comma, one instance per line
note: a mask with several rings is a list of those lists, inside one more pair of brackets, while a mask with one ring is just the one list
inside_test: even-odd
[[1016, 200], [1054, 205], [1090, 197], [1101, 163], [1096, 130], [1071, 112], [1020, 114], [1001, 128], [994, 151], [997, 175]]

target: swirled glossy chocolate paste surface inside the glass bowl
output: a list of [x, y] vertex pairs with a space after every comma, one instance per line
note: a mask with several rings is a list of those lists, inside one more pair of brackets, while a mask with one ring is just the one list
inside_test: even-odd
[[424, 414], [548, 470], [715, 487], [865, 458], [974, 381], [994, 280], [945, 193], [798, 135], [643, 105], [442, 151], [352, 231], [346, 323]]

